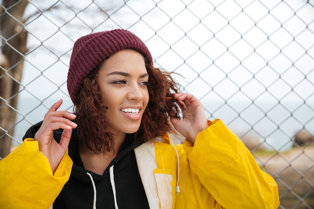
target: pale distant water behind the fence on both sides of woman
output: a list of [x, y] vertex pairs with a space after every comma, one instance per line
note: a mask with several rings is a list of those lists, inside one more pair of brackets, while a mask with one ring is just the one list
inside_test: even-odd
[[[49, 98], [42, 103], [34, 98], [23, 98], [19, 102], [17, 116], [17, 125], [14, 134], [15, 143], [21, 143], [22, 138], [27, 129], [32, 125], [44, 119], [44, 115], [50, 106], [60, 98]], [[73, 104], [66, 97], [62, 98], [63, 104], [59, 110], [67, 110], [73, 112]], [[206, 109], [215, 109], [217, 103], [209, 105], [204, 104]], [[297, 106], [291, 112], [287, 107], [277, 107], [271, 110], [267, 109], [269, 104], [265, 103], [259, 108], [246, 108], [242, 110], [243, 104], [233, 104], [232, 108], [221, 108], [214, 113], [206, 112], [208, 117], [213, 120], [220, 118], [223, 122], [240, 138], [245, 135], [245, 138], [252, 138], [263, 143], [266, 149], [286, 150], [292, 146], [293, 136], [304, 127], [311, 134], [314, 134], [314, 111], [308, 108], [308, 105]], [[313, 107], [314, 105], [312, 105]], [[293, 104], [290, 105], [291, 109]], [[265, 113], [261, 109], [265, 108]], [[240, 112], [240, 117], [237, 111]], [[253, 130], [252, 130], [253, 124]]]

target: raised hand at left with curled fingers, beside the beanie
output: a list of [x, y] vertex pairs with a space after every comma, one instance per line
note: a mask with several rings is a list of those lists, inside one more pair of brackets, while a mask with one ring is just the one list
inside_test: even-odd
[[[57, 111], [61, 104], [62, 100], [60, 99], [51, 106], [35, 134], [39, 150], [48, 158], [53, 174], [67, 151], [72, 129], [77, 127], [77, 124], [71, 121], [76, 118], [76, 115], [67, 111]], [[53, 137], [53, 131], [60, 128], [63, 129], [63, 132], [58, 143]]]

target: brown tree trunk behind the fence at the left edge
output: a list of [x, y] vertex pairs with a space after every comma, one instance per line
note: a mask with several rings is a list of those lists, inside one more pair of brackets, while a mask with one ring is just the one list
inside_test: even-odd
[[[27, 0], [3, 0], [0, 9], [2, 54], [0, 57], [0, 159], [10, 153], [22, 79], [27, 31], [23, 15]], [[5, 9], [4, 9], [5, 8]]]

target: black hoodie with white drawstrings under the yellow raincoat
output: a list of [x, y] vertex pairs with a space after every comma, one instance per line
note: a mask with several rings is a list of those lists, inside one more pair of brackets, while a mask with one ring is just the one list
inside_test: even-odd
[[[34, 138], [41, 124], [42, 122], [39, 122], [29, 128], [23, 140]], [[61, 134], [62, 129], [54, 131], [57, 142], [60, 141]], [[115, 208], [114, 191], [119, 209], [149, 208], [134, 154], [134, 148], [143, 142], [140, 139], [134, 142], [133, 138], [133, 134], [126, 136], [117, 156], [103, 175], [98, 175], [84, 168], [79, 154], [76, 129], [73, 129], [69, 143], [69, 156], [73, 160], [71, 175], [56, 198], [53, 208], [93, 208], [93, 205], [96, 205], [96, 208]], [[109, 175], [109, 168], [112, 165], [115, 188], [112, 187]]]

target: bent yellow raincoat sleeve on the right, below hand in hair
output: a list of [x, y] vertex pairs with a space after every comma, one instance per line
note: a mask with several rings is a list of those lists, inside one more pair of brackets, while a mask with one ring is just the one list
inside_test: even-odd
[[[279, 205], [278, 186], [262, 171], [242, 141], [221, 120], [183, 148], [199, 180], [223, 208], [273, 209]], [[197, 188], [196, 188], [197, 189]], [[219, 207], [220, 208], [220, 207]]]

